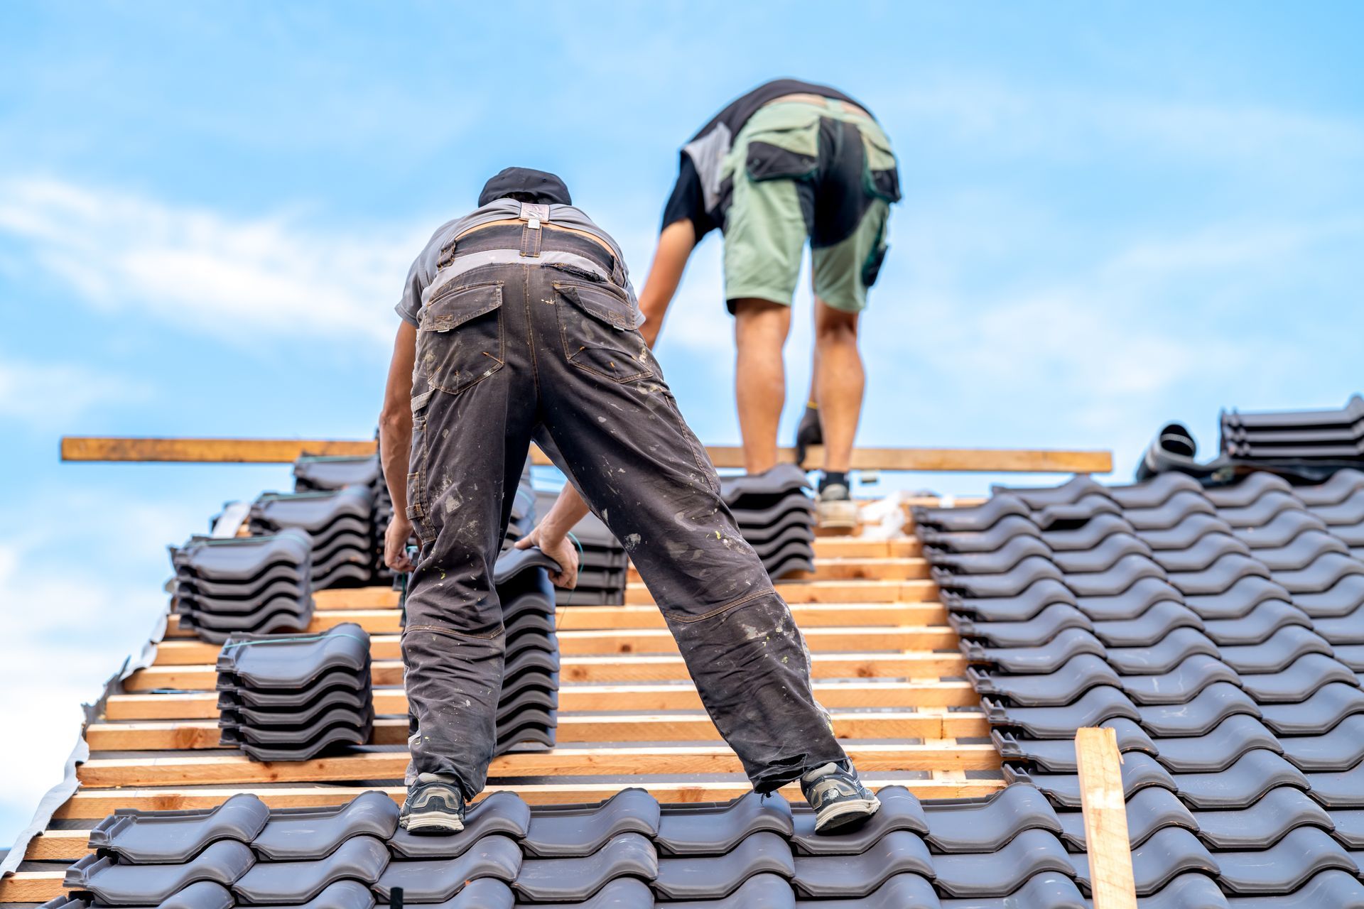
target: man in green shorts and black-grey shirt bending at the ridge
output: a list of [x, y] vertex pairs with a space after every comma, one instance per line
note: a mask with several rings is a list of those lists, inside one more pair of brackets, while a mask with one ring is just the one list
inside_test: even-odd
[[723, 232], [743, 463], [750, 474], [762, 473], [777, 458], [786, 403], [782, 349], [809, 238], [814, 369], [797, 448], [824, 443], [824, 527], [857, 526], [847, 474], [865, 384], [858, 316], [885, 258], [887, 218], [899, 199], [891, 140], [863, 105], [827, 86], [768, 82], [682, 146], [659, 248], [640, 293], [641, 333], [652, 346], [692, 249], [712, 228]]

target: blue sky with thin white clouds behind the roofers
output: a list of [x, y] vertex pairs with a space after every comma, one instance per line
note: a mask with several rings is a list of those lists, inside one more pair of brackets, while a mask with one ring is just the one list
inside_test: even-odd
[[[832, 12], [835, 11], [836, 12]], [[0, 842], [164, 605], [164, 546], [282, 467], [60, 465], [61, 433], [374, 431], [431, 229], [557, 170], [642, 279], [677, 147], [776, 75], [880, 117], [906, 199], [862, 442], [1108, 447], [1359, 390], [1348, 3], [0, 8]], [[807, 383], [809, 296], [790, 367]], [[719, 241], [659, 349], [732, 442]], [[975, 476], [898, 482], [973, 492]], [[870, 489], [874, 492], [874, 488]], [[22, 730], [22, 735], [20, 735]], [[30, 744], [33, 743], [33, 744]]]

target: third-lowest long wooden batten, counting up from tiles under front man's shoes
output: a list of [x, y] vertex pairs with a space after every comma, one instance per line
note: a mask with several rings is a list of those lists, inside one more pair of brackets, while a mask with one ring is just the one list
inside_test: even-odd
[[[835, 711], [833, 733], [839, 739], [956, 739], [990, 735], [985, 715], [944, 710]], [[559, 744], [588, 741], [717, 741], [711, 717], [689, 714], [565, 713], [558, 715]], [[398, 745], [408, 740], [406, 717], [379, 717], [374, 724], [374, 745]], [[168, 722], [95, 722], [86, 729], [91, 751], [190, 751], [218, 748], [218, 724], [213, 720]], [[966, 747], [966, 745], [963, 745]], [[970, 745], [975, 748], [975, 745]], [[952, 751], [944, 748], [944, 751]], [[974, 754], [974, 752], [973, 752]], [[998, 759], [989, 751], [989, 769]], [[574, 756], [565, 752], [565, 760]], [[978, 760], [977, 758], [973, 758]], [[951, 763], [951, 762], [948, 762]], [[973, 769], [981, 767], [973, 765]]]

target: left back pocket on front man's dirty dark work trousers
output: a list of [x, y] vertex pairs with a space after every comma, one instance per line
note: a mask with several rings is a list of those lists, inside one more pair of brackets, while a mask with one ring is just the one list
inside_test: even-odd
[[502, 282], [442, 288], [421, 311], [417, 368], [432, 388], [458, 394], [502, 368]]

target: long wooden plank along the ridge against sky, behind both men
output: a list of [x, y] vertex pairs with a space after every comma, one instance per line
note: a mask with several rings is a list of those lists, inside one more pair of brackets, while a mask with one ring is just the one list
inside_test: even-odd
[[[300, 455], [352, 455], [375, 452], [372, 439], [173, 439], [173, 437], [101, 437], [63, 436], [63, 461], [175, 461], [194, 463], [289, 463]], [[716, 467], [742, 467], [739, 446], [707, 446]], [[782, 461], [794, 461], [792, 448], [777, 452]], [[533, 463], [550, 459], [532, 447]], [[806, 455], [807, 463], [821, 463], [822, 446]], [[1031, 448], [857, 448], [854, 470], [964, 470], [988, 473], [1108, 473], [1113, 455], [1093, 450]]]

